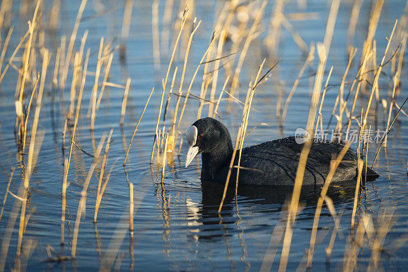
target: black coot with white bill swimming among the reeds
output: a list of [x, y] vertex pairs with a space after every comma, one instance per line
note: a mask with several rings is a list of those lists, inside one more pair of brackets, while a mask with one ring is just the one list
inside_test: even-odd
[[[234, 152], [230, 132], [218, 120], [207, 117], [193, 123], [186, 130], [189, 149], [186, 167], [197, 154], [201, 154], [201, 180], [225, 183], [231, 157]], [[303, 144], [295, 137], [267, 141], [242, 149], [239, 184], [252, 185], [293, 185]], [[303, 184], [323, 184], [332, 155], [338, 156], [343, 145], [335, 142], [313, 142], [304, 171]], [[238, 164], [238, 154], [234, 165]], [[365, 167], [363, 167], [365, 169]], [[365, 174], [363, 169], [363, 175]], [[332, 182], [353, 180], [357, 176], [357, 155], [348, 150], [337, 168]], [[378, 177], [367, 168], [367, 177]], [[233, 169], [230, 184], [235, 184], [236, 168]]]

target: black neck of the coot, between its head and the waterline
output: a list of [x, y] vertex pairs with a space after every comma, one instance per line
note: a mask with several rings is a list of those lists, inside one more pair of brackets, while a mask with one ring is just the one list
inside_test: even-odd
[[201, 180], [224, 181], [233, 152], [233, 143], [228, 133], [228, 137], [225, 137], [216, 149], [208, 153], [201, 153]]

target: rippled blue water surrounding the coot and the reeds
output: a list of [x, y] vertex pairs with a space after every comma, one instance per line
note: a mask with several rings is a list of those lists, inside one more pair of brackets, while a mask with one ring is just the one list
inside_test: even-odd
[[[52, 2], [44, 2], [41, 20], [45, 22], [48, 21]], [[164, 5], [164, 1], [159, 1], [160, 31], [163, 29], [162, 16]], [[179, 1], [175, 1], [172, 23], [175, 21], [175, 13], [179, 5]], [[224, 1], [200, 1], [194, 4], [194, 16], [197, 16], [197, 19], [202, 21], [191, 45], [184, 90], [187, 89], [195, 67], [207, 48], [213, 31], [213, 22], [223, 5]], [[244, 2], [243, 5], [247, 5], [247, 3]], [[251, 3], [250, 5], [251, 9], [259, 6], [257, 3]], [[363, 1], [353, 41], [354, 46], [358, 47], [359, 50], [356, 59], [360, 59], [362, 44], [367, 36], [370, 5], [371, 2]], [[382, 8], [375, 35], [377, 63], [380, 61], [387, 45], [385, 37], [390, 36], [395, 19], [399, 19], [403, 14], [404, 5], [405, 3], [402, 1], [387, 1]], [[29, 10], [32, 9], [32, 6], [33, 4], [30, 2]], [[283, 208], [284, 202], [291, 193], [290, 189], [239, 188], [236, 199], [234, 192], [230, 192], [227, 195], [219, 215], [217, 210], [223, 187], [219, 184], [200, 182], [200, 160], [193, 160], [189, 167], [184, 167], [185, 153], [187, 151], [186, 144], [183, 145], [180, 156], [177, 156], [177, 153], [173, 155], [168, 154], [170, 159], [165, 168], [164, 186], [160, 182], [161, 165], [156, 163], [156, 156], [154, 163], [151, 166], [149, 164], [151, 145], [160, 106], [161, 79], [165, 76], [169, 60], [168, 55], [162, 54], [160, 70], [155, 72], [151, 35], [151, 3], [149, 1], [134, 1], [130, 35], [126, 42], [126, 59], [124, 62], [121, 62], [119, 52], [115, 52], [112, 62], [109, 82], [124, 85], [128, 77], [132, 79], [123, 127], [119, 126], [123, 89], [107, 87], [96, 115], [93, 135], [90, 133], [89, 120], [86, 118], [86, 114], [94, 77], [92, 75], [87, 76], [77, 134], [75, 135], [76, 142], [87, 152], [93, 153], [93, 142], [97, 145], [100, 137], [104, 133], [109, 133], [111, 128], [114, 128], [107, 168], [109, 169], [115, 160], [118, 159], [113, 167], [110, 181], [101, 201], [97, 222], [93, 224], [92, 220], [100, 166], [96, 167], [87, 190], [86, 209], [83, 212], [79, 227], [77, 257], [74, 260], [63, 262], [44, 262], [48, 258], [47, 244], [52, 246], [59, 255], [70, 256], [80, 194], [88, 169], [92, 163], [91, 157], [83, 154], [76, 148], [73, 149], [68, 172], [69, 186], [67, 189], [65, 223], [66, 243], [64, 246], [60, 246], [61, 187], [64, 173], [61, 146], [65, 121], [61, 105], [65, 103], [65, 107], [68, 107], [72, 72], [70, 70], [68, 73], [63, 100], [58, 95], [59, 91], [56, 93], [53, 91], [51, 75], [54, 68], [55, 52], [60, 44], [60, 38], [62, 35], [66, 35], [69, 39], [79, 6], [80, 2], [77, 1], [62, 2], [58, 30], [55, 33], [45, 32], [45, 46], [51, 53], [50, 67], [52, 68], [47, 71], [39, 118], [38, 129], [44, 133], [44, 139], [30, 180], [27, 203], [26, 214], [30, 214], [30, 218], [24, 233], [23, 248], [30, 241], [34, 243], [28, 260], [24, 254], [21, 258], [23, 264], [27, 263], [27, 270], [97, 270], [99, 267], [106, 267], [106, 262], [109, 261], [108, 257], [112, 255], [112, 252], [113, 260], [121, 259], [120, 270], [259, 270], [268, 246], [276, 248], [272, 270], [277, 270], [281, 257], [282, 241], [278, 244], [270, 244], [269, 241], [274, 227], [279, 224], [279, 218], [282, 216], [281, 210], [285, 209]], [[240, 77], [241, 86], [238, 96], [241, 100], [245, 99], [250, 77], [256, 75], [258, 66], [263, 58], [267, 58], [266, 66], [271, 66], [275, 61], [273, 56], [267, 54], [267, 50], [263, 45], [263, 39], [267, 34], [267, 31], [264, 30], [268, 29], [273, 8], [274, 3], [269, 3], [266, 6], [265, 16], [261, 20], [261, 26], [259, 27], [259, 31], [262, 31], [262, 33], [249, 47]], [[351, 8], [352, 5], [348, 2], [340, 4], [324, 77], [325, 81], [328, 70], [333, 65], [333, 74], [329, 84], [340, 84], [347, 64], [346, 35]], [[105, 9], [112, 10], [103, 15], [89, 17]], [[294, 29], [302, 37], [305, 44], [310, 45], [311, 42], [323, 40], [328, 10], [329, 5], [326, 2], [308, 2], [307, 8], [303, 10], [297, 6], [296, 1], [290, 1], [285, 5], [284, 13], [287, 15], [298, 12], [316, 13], [316, 18], [291, 21]], [[27, 30], [26, 21], [28, 19], [19, 18], [18, 14], [19, 4], [13, 2], [12, 25], [15, 30], [6, 53], [6, 61], [13, 53], [19, 38]], [[94, 72], [96, 69], [96, 56], [100, 37], [104, 36], [109, 42], [114, 41], [114, 45], [119, 43], [122, 15], [122, 2], [103, 1], [101, 3], [87, 3], [83, 14], [85, 19], [80, 23], [74, 50], [77, 51], [79, 49], [84, 31], [89, 30], [85, 50], [90, 48], [91, 52], [88, 66], [90, 72]], [[28, 18], [30, 16], [31, 13], [29, 12]], [[252, 20], [249, 23], [251, 24]], [[6, 35], [7, 32], [3, 30], [2, 42]], [[171, 35], [172, 31], [170, 39]], [[310, 82], [308, 75], [316, 71], [317, 56], [313, 67], [305, 71], [299, 82], [299, 86], [289, 104], [288, 114], [283, 127], [279, 126], [276, 117], [276, 101], [279, 99], [279, 92], [283, 92], [283, 107], [300, 66], [305, 59], [305, 56], [294, 43], [290, 34], [283, 30], [281, 35], [278, 57], [282, 56], [282, 60], [273, 70], [270, 80], [256, 89], [252, 103], [254, 110], [250, 112], [248, 130], [259, 125], [259, 123], [267, 123], [268, 126], [260, 126], [253, 130], [245, 137], [245, 145], [293, 135], [296, 128], [305, 127], [308, 118], [310, 107]], [[161, 37], [161, 32], [159, 37]], [[187, 41], [188, 32], [184, 32], [182, 38]], [[223, 55], [229, 54], [230, 47], [231, 42], [227, 42]], [[390, 48], [390, 52], [393, 52], [395, 48], [395, 46]], [[36, 44], [36, 51], [39, 56], [38, 43]], [[17, 56], [20, 55], [21, 51]], [[180, 58], [180, 55], [184, 55], [184, 53], [177, 52], [174, 60], [174, 65], [179, 67], [174, 86], [175, 91], [179, 87], [183, 66], [183, 58]], [[391, 57], [391, 53], [388, 55]], [[38, 70], [41, 67], [40, 63], [41, 60], [38, 59]], [[15, 64], [19, 66], [18, 61], [15, 61]], [[358, 65], [355, 63], [350, 68], [346, 81], [350, 81], [355, 77], [358, 70], [356, 66]], [[264, 70], [266, 72], [267, 67]], [[173, 68], [170, 70], [168, 87], [172, 71]], [[384, 71], [387, 75], [380, 77], [379, 95], [380, 99], [385, 98], [390, 102], [390, 98], [387, 96], [390, 67], [384, 67]], [[225, 80], [225, 73], [225, 69], [220, 69], [216, 97], [218, 97]], [[401, 105], [405, 100], [406, 73], [407, 70], [403, 67], [401, 71], [401, 93], [397, 96], [398, 105]], [[192, 93], [195, 95], [199, 95], [201, 77], [202, 68], [200, 68], [192, 87]], [[0, 85], [1, 199], [3, 199], [6, 192], [10, 167], [16, 167], [10, 185], [10, 191], [15, 194], [18, 192], [20, 181], [24, 177], [25, 172], [25, 164], [17, 156], [17, 145], [13, 133], [16, 80], [17, 72], [10, 68]], [[350, 84], [347, 83], [345, 93], [348, 92]], [[155, 92], [133, 141], [129, 162], [123, 168], [122, 161], [127, 144], [129, 144], [135, 123], [142, 112], [152, 87], [156, 87]], [[367, 89], [370, 90], [369, 87]], [[322, 109], [324, 127], [327, 125], [337, 93], [338, 86], [333, 86], [327, 90]], [[174, 109], [175, 100], [176, 96], [172, 96], [170, 109]], [[25, 101], [28, 101], [27, 97]], [[183, 101], [184, 98], [182, 99]], [[223, 101], [220, 105], [219, 113], [220, 120], [225, 123], [230, 129], [233, 138], [235, 138], [240, 126], [242, 107], [238, 104], [232, 105], [232, 110], [227, 111], [227, 103]], [[358, 115], [360, 106], [366, 107], [366, 105], [366, 99], [359, 100], [354, 114]], [[347, 105], [348, 108], [350, 106]], [[197, 107], [198, 102], [196, 100], [188, 101], [181, 124], [181, 131], [184, 131], [187, 126], [195, 121]], [[374, 104], [372, 109], [374, 109]], [[385, 130], [388, 111], [384, 115], [381, 104], [379, 104], [378, 109], [378, 112], [373, 112], [370, 115], [368, 122], [372, 126], [372, 130]], [[208, 106], [205, 106], [202, 116], [205, 116], [207, 111]], [[377, 120], [375, 120], [374, 116], [377, 116]], [[393, 116], [394, 113], [392, 114]], [[361, 190], [356, 215], [357, 222], [359, 222], [359, 218], [362, 218], [364, 214], [371, 216], [376, 230], [380, 227], [378, 226], [378, 218], [382, 212], [387, 211], [387, 214], [393, 215], [393, 225], [385, 238], [385, 251], [380, 254], [379, 267], [383, 267], [386, 270], [404, 270], [408, 264], [408, 245], [402, 244], [401, 248], [393, 252], [394, 242], [408, 234], [406, 225], [408, 219], [408, 180], [406, 175], [406, 162], [408, 158], [406, 156], [406, 149], [408, 145], [405, 144], [408, 137], [407, 125], [406, 116], [400, 114], [389, 135], [387, 148], [381, 150], [374, 166], [374, 170], [378, 172], [380, 177], [373, 182], [368, 182], [367, 186]], [[168, 123], [166, 126], [168, 127]], [[330, 131], [331, 129], [334, 129], [333, 123]], [[355, 122], [353, 122], [353, 129], [356, 129]], [[71, 133], [72, 127], [68, 126], [65, 139], [66, 147], [69, 147]], [[183, 136], [179, 136], [179, 139], [181, 137]], [[178, 146], [179, 142], [177, 141], [176, 151]], [[376, 143], [370, 143], [369, 145], [369, 165], [372, 163], [377, 147], [378, 144]], [[352, 148], [356, 149], [356, 144], [353, 144]], [[68, 152], [69, 150], [65, 150], [65, 157], [68, 156]], [[23, 162], [27, 163], [26, 161], [27, 155], [24, 155]], [[129, 182], [134, 184], [135, 194], [135, 231], [133, 238], [129, 232]], [[333, 253], [329, 263], [326, 264], [325, 248], [329, 244], [334, 220], [328, 209], [324, 206], [317, 232], [318, 239], [312, 265], [313, 270], [338, 270], [343, 267], [343, 257], [345, 248], [347, 248], [346, 244], [348, 243], [347, 237], [351, 233], [350, 223], [354, 198], [353, 186], [354, 184], [345, 184], [330, 188], [328, 192], [328, 195], [334, 201], [337, 212], [342, 211], [340, 220], [341, 231], [336, 236]], [[313, 217], [319, 192], [320, 188], [305, 188], [301, 194], [301, 203], [304, 205], [304, 208], [297, 217], [293, 229], [288, 270], [295, 270], [299, 264], [300, 269], [302, 267], [304, 269], [304, 252], [305, 249], [309, 248]], [[14, 197], [9, 194], [4, 214], [0, 221], [2, 242], [4, 241], [8, 218], [14, 202]], [[10, 270], [10, 268], [14, 267], [18, 218], [11, 236], [5, 270]], [[366, 269], [370, 261], [371, 244], [372, 241], [368, 241], [365, 238], [362, 245], [363, 250], [359, 252], [356, 258], [356, 270]], [[391, 254], [388, 252], [391, 252]], [[51, 256], [55, 257], [54, 254]], [[115, 264], [119, 266], [119, 261], [110, 264], [108, 267], [114, 269]], [[24, 265], [22, 268], [24, 268]]]

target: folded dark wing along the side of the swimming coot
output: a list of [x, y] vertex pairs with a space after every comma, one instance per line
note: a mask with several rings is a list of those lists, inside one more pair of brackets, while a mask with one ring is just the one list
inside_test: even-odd
[[[323, 184], [330, 170], [332, 156], [338, 156], [343, 145], [313, 143], [304, 171], [303, 184]], [[296, 177], [303, 144], [288, 137], [248, 146], [242, 151], [240, 181], [259, 185], [292, 185]], [[332, 155], [333, 154], [333, 155]], [[356, 156], [349, 150], [340, 163], [333, 182], [356, 176]]]

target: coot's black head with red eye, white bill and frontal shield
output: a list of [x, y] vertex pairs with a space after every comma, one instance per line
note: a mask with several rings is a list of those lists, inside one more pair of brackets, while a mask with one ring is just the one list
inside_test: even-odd
[[[208, 153], [218, 155], [220, 152], [229, 153], [232, 149], [232, 141], [228, 129], [220, 121], [211, 118], [198, 119], [187, 128], [186, 138], [188, 152], [186, 156], [186, 167], [197, 154]], [[226, 156], [230, 154], [225, 154]]]

